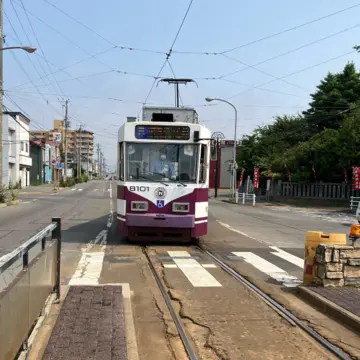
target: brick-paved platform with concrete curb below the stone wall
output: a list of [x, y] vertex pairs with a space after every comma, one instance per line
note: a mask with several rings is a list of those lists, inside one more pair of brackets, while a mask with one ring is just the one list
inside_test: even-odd
[[300, 286], [299, 294], [323, 313], [360, 333], [360, 289]]

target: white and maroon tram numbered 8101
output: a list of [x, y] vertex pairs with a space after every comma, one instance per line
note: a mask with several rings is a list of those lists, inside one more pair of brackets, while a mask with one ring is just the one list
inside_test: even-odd
[[211, 132], [192, 108], [144, 106], [118, 132], [117, 222], [130, 241], [207, 234]]

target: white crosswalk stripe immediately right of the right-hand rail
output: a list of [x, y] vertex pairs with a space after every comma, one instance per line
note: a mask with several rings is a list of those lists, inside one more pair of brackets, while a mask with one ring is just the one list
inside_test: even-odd
[[260, 256], [253, 254], [252, 252], [233, 252], [233, 254], [241, 257], [244, 261], [272, 277], [276, 281], [282, 283], [286, 287], [296, 287], [301, 284], [301, 281], [297, 277], [289, 275], [285, 270], [277, 267]]

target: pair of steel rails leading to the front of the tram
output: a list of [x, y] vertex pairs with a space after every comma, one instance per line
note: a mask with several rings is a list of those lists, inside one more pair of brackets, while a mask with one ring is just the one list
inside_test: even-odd
[[[299, 327], [301, 330], [306, 332], [310, 337], [312, 337], [320, 345], [322, 345], [325, 349], [327, 349], [332, 354], [334, 354], [338, 359], [351, 360], [351, 358], [348, 355], [346, 355], [341, 349], [334, 346], [328, 340], [326, 340], [324, 337], [322, 337], [320, 334], [318, 334], [316, 331], [314, 331], [312, 328], [305, 325], [300, 319], [298, 319], [296, 316], [294, 316], [290, 311], [286, 310], [281, 304], [279, 304], [277, 301], [275, 301], [270, 296], [265, 294], [261, 289], [259, 289], [257, 286], [252, 284], [249, 280], [245, 279], [242, 275], [240, 275], [238, 272], [236, 272], [234, 269], [232, 269], [229, 265], [227, 265], [222, 260], [220, 260], [218, 257], [216, 257], [213, 253], [211, 253], [210, 251], [208, 251], [206, 249], [203, 249], [201, 246], [197, 246], [197, 249], [200, 252], [206, 254], [208, 257], [210, 257], [214, 261], [214, 263], [216, 263], [227, 274], [229, 274], [231, 277], [235, 278], [237, 281], [239, 281], [245, 287], [247, 287], [252, 292], [257, 294], [267, 305], [269, 305], [274, 311], [276, 311], [280, 316], [282, 316], [285, 320], [287, 320], [292, 326]], [[181, 324], [181, 320], [177, 316], [176, 311], [172, 305], [172, 301], [161, 281], [159, 274], [157, 273], [157, 271], [155, 269], [154, 263], [151, 260], [150, 255], [147, 252], [146, 246], [143, 247], [143, 252], [148, 260], [150, 269], [154, 275], [156, 283], [159, 286], [159, 289], [164, 297], [166, 305], [167, 305], [167, 307], [170, 311], [170, 314], [174, 320], [177, 331], [183, 342], [183, 345], [189, 356], [189, 359], [190, 360], [198, 360], [198, 357], [197, 357], [194, 349], [191, 346], [191, 342], [190, 342], [188, 336], [186, 335], [185, 329], [184, 329], [183, 325]]]

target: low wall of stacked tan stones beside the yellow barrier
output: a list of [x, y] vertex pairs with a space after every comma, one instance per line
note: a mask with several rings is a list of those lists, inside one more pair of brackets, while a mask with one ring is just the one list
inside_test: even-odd
[[360, 247], [319, 245], [313, 275], [317, 285], [360, 287]]

